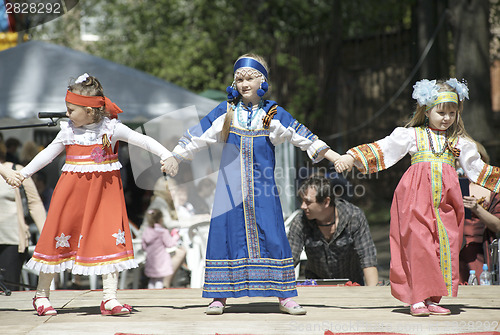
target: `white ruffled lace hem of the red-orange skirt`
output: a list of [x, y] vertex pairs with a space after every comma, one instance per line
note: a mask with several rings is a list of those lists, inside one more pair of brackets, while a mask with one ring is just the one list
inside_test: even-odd
[[129, 259], [126, 261], [122, 261], [114, 264], [105, 264], [105, 265], [97, 265], [97, 266], [82, 266], [75, 265], [73, 260], [62, 262], [60, 264], [51, 265], [40, 263], [34, 261], [33, 258], [26, 263], [26, 266], [29, 269], [34, 270], [35, 272], [43, 272], [43, 273], [59, 273], [65, 270], [71, 270], [72, 274], [75, 275], [105, 275], [113, 272], [121, 272], [124, 270], [130, 270], [138, 267], [135, 259]]

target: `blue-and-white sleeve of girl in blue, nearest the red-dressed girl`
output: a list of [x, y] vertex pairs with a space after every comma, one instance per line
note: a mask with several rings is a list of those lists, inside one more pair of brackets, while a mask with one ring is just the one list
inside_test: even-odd
[[196, 152], [218, 142], [226, 114], [227, 102], [224, 101], [184, 133], [172, 151], [174, 157], [180, 161], [192, 160]]

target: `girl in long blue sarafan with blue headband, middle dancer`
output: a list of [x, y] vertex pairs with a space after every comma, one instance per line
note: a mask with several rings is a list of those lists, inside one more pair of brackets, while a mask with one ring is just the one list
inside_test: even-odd
[[179, 161], [211, 143], [225, 142], [206, 253], [203, 297], [214, 298], [206, 314], [222, 314], [226, 299], [278, 297], [289, 314], [306, 310], [297, 296], [293, 258], [274, 179], [277, 144], [289, 141], [313, 162], [340, 157], [276, 102], [268, 90], [268, 67], [258, 55], [234, 64], [228, 101], [190, 128], [173, 154]]

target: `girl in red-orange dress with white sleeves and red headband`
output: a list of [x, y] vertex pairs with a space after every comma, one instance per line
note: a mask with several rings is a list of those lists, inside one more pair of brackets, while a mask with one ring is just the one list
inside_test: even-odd
[[83, 74], [69, 85], [61, 130], [47, 148], [19, 172], [32, 176], [66, 150], [66, 163], [54, 190], [45, 226], [27, 266], [40, 271], [33, 307], [38, 315], [55, 315], [49, 301], [55, 273], [102, 275], [102, 315], [129, 314], [132, 307], [116, 299], [118, 272], [135, 268], [118, 161], [118, 141], [158, 155], [162, 170], [175, 175], [177, 162], [156, 140], [121, 122], [121, 109], [104, 96], [97, 78]]

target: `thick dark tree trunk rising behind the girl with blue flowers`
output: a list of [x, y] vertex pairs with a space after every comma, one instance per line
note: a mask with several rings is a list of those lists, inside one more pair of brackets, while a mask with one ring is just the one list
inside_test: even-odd
[[470, 101], [464, 104], [463, 120], [477, 141], [492, 139], [489, 61], [489, 0], [451, 1], [455, 41], [456, 77], [467, 80]]

